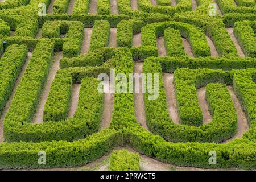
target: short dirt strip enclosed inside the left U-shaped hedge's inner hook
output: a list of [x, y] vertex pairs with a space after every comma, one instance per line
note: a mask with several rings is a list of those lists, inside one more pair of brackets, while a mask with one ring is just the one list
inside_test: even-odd
[[68, 118], [73, 118], [78, 106], [79, 101], [79, 90], [81, 84], [73, 84], [72, 85], [72, 97], [69, 105]]

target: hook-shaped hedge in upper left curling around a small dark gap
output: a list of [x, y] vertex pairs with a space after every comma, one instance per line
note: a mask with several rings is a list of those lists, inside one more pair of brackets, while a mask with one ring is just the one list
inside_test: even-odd
[[[65, 38], [60, 38], [65, 34]], [[42, 37], [55, 41], [55, 50], [63, 50], [64, 57], [80, 54], [84, 39], [84, 24], [75, 21], [47, 21], [42, 28]]]

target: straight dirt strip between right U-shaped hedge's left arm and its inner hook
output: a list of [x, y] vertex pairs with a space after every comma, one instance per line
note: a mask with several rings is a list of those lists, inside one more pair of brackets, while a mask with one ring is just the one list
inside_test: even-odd
[[175, 124], [180, 124], [179, 111], [175, 96], [174, 74], [163, 73], [164, 89], [166, 90], [167, 107], [169, 116]]

